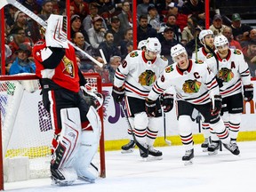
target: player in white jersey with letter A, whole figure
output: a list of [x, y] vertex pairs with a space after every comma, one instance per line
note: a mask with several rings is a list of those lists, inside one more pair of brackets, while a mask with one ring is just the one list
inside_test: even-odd
[[[238, 49], [230, 49], [226, 36], [215, 36], [214, 45], [218, 60], [212, 56], [207, 59], [207, 62], [213, 73], [222, 81], [220, 85], [220, 95], [223, 98], [221, 118], [229, 130], [231, 142], [236, 145], [241, 116], [244, 111], [243, 100], [249, 102], [253, 98], [250, 70], [244, 60], [243, 52]], [[212, 144], [208, 151], [214, 153], [219, 148], [219, 142], [218, 138], [211, 137]]]

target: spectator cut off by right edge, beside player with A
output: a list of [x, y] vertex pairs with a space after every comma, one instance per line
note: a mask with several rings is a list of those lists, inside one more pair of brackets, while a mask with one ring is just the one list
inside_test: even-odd
[[243, 48], [244, 60], [248, 63], [252, 77], [256, 77], [256, 41], [251, 40]]

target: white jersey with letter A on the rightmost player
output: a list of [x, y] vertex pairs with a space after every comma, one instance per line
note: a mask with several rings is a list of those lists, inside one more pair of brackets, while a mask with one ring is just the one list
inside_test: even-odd
[[220, 95], [225, 98], [230, 95], [242, 92], [242, 84], [251, 84], [251, 75], [248, 64], [244, 60], [244, 54], [238, 49], [229, 49], [226, 59], [221, 59], [216, 52], [219, 60], [219, 69], [217, 61], [212, 56], [206, 61], [213, 74], [224, 80], [223, 86], [220, 87]]

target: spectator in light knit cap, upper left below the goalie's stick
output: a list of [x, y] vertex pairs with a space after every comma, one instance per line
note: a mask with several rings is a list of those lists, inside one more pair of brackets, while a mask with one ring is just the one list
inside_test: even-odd
[[23, 28], [25, 30], [25, 35], [30, 37], [33, 43], [36, 43], [41, 38], [36, 21], [31, 19], [28, 21], [27, 16], [24, 12], [21, 12], [21, 11], [15, 12], [14, 25], [10, 31], [10, 35], [13, 34], [14, 28]]

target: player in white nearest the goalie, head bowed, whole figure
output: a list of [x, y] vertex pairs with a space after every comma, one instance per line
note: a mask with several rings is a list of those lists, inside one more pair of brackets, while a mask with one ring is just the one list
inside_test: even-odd
[[156, 101], [156, 116], [147, 116], [145, 111], [145, 98], [168, 64], [168, 60], [159, 55], [160, 52], [161, 44], [158, 39], [148, 38], [146, 51], [136, 50], [129, 53], [116, 69], [112, 91], [117, 103], [125, 101], [135, 142], [143, 158], [148, 155], [162, 156], [161, 151], [153, 148], [157, 132], [163, 124], [160, 101]]

